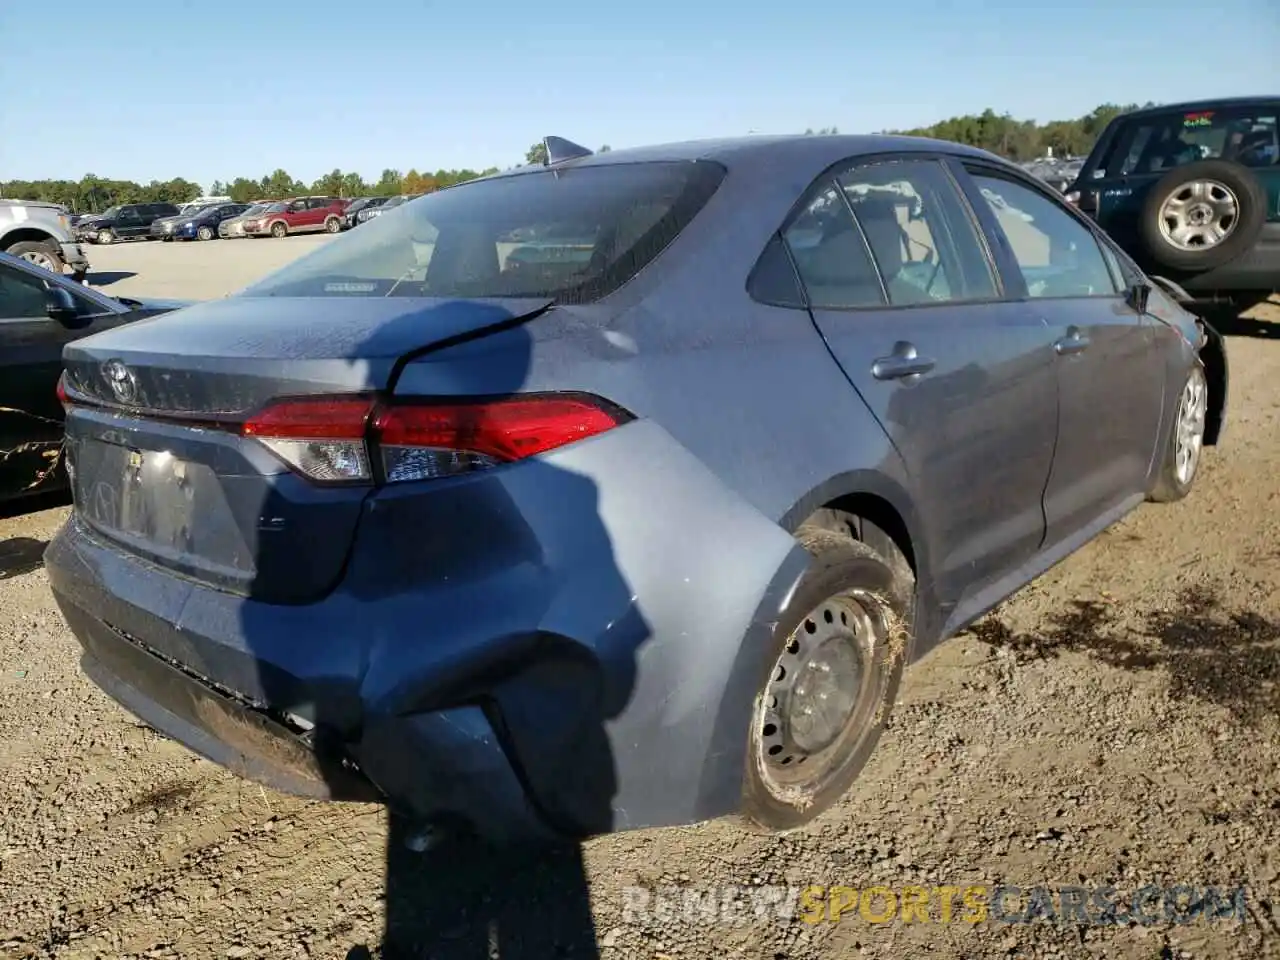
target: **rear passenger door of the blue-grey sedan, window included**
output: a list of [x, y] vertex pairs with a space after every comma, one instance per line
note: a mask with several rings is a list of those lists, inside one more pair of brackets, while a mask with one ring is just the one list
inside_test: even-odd
[[940, 596], [982, 607], [1043, 539], [1052, 335], [1005, 298], [941, 160], [824, 177], [785, 238], [814, 323], [911, 474]]

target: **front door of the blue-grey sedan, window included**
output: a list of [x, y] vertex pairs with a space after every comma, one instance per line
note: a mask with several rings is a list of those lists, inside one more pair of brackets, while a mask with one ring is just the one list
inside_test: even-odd
[[1164, 351], [1126, 298], [1092, 228], [1051, 191], [966, 163], [989, 232], [1021, 275], [1025, 306], [1052, 332], [1060, 413], [1044, 489], [1046, 541], [1093, 531], [1139, 502], [1160, 434]]

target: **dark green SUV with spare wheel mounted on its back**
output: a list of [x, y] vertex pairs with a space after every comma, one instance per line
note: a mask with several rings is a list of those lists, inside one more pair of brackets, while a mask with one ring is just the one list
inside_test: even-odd
[[1280, 96], [1147, 108], [1102, 132], [1066, 198], [1184, 291], [1280, 291]]

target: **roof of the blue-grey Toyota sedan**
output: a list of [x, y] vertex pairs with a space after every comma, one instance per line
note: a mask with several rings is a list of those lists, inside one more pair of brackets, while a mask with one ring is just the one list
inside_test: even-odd
[[[726, 166], [755, 166], [783, 164], [803, 164], [805, 166], [827, 166], [846, 157], [876, 154], [934, 152], [954, 156], [982, 157], [984, 160], [1007, 160], [997, 157], [977, 147], [968, 147], [951, 141], [929, 137], [905, 137], [897, 134], [812, 134], [794, 133], [780, 136], [751, 134], [748, 137], [728, 137], [722, 140], [690, 140], [675, 143], [657, 143], [644, 147], [609, 150], [604, 154], [591, 154], [575, 160], [564, 160], [552, 169], [575, 166], [600, 166], [607, 164], [632, 164], [673, 160], [712, 160]], [[518, 177], [548, 168], [541, 165], [517, 166], [494, 177]]]

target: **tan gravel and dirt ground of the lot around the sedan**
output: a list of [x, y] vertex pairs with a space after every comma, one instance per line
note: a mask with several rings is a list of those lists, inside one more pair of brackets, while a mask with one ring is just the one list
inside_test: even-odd
[[[93, 247], [92, 279], [215, 297], [326, 239]], [[713, 823], [388, 858], [379, 809], [238, 781], [99, 694], [40, 567], [67, 508], [0, 520], [0, 955], [1280, 957], [1280, 307], [1233, 330], [1226, 445], [1196, 493], [916, 664], [846, 803], [785, 838]], [[1243, 922], [1149, 925], [623, 909], [635, 886], [997, 883], [1247, 900]], [[384, 923], [402, 950], [380, 951]]]

